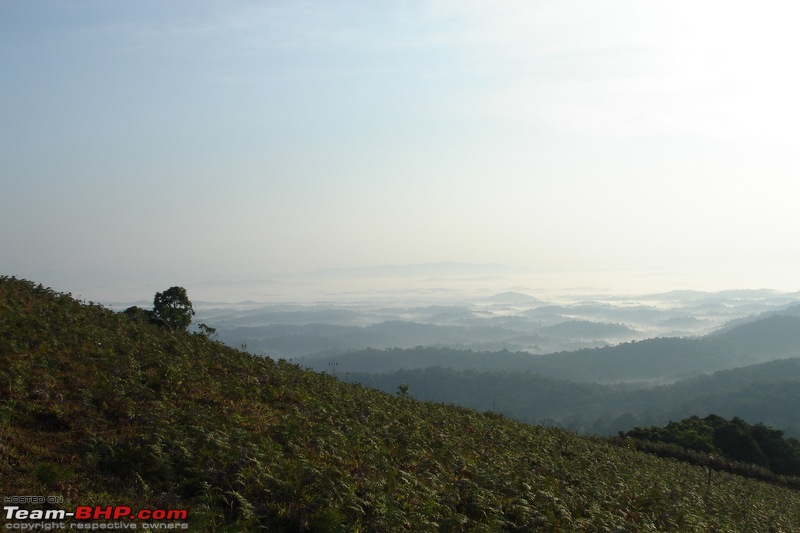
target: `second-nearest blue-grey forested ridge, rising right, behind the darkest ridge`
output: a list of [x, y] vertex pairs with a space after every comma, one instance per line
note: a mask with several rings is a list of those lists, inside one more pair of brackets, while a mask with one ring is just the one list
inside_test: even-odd
[[550, 355], [419, 346], [407, 350], [362, 350], [300, 361], [320, 371], [335, 364], [340, 373], [440, 366], [456, 370], [528, 371], [570, 381], [614, 383], [677, 379], [798, 356], [800, 317], [778, 315], [700, 338], [655, 338]]

